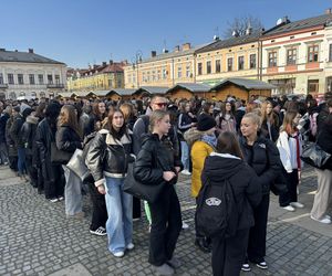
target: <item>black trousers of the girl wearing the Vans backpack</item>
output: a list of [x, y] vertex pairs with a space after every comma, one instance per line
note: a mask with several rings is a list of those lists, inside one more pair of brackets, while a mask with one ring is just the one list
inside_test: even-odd
[[214, 276], [238, 276], [246, 259], [250, 229], [228, 238], [212, 237]]

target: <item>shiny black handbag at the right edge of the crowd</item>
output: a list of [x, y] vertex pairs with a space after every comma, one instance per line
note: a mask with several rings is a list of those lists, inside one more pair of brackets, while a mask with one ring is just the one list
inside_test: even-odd
[[304, 163], [308, 163], [318, 169], [321, 169], [330, 158], [331, 155], [324, 151], [315, 142], [308, 142], [307, 145], [304, 145], [301, 156], [301, 159]]

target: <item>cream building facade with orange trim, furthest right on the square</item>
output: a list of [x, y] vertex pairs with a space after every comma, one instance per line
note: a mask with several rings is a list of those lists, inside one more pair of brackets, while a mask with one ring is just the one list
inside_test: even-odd
[[330, 10], [294, 22], [283, 18], [261, 36], [261, 78], [276, 85], [276, 93], [318, 95], [326, 91], [331, 21]]

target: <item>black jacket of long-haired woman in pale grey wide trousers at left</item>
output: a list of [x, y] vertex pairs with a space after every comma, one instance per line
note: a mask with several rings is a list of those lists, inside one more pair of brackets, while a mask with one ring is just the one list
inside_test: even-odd
[[82, 149], [81, 137], [68, 125], [62, 125], [58, 128], [55, 142], [56, 148], [63, 151], [74, 153], [76, 149]]

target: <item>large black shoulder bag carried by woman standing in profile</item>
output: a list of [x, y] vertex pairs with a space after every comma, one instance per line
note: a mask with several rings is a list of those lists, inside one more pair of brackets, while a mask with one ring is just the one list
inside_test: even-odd
[[123, 190], [141, 200], [154, 203], [160, 197], [165, 182], [160, 181], [152, 185], [141, 183], [134, 177], [134, 163], [128, 164], [127, 176], [124, 180]]

